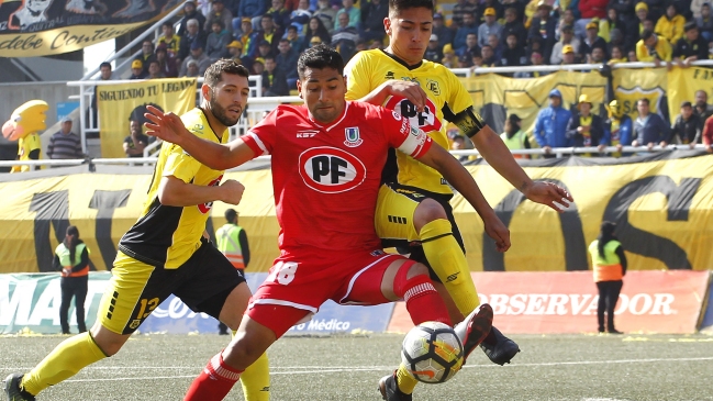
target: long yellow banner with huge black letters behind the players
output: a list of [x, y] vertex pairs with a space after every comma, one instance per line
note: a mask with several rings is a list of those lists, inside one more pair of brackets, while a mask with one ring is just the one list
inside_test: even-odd
[[[497, 253], [478, 215], [456, 194], [452, 204], [474, 271], [587, 270], [587, 248], [602, 220], [619, 224], [632, 270], [713, 268], [713, 155], [631, 164], [572, 157], [559, 166], [525, 167], [534, 179], [558, 182], [573, 196], [575, 205], [561, 214], [525, 201], [489, 166], [467, 168], [512, 237], [512, 248]], [[96, 268], [107, 269], [146, 200], [151, 175], [130, 171], [0, 182], [0, 272], [49, 271], [69, 224], [79, 227]], [[267, 271], [278, 255], [279, 232], [270, 170], [225, 178], [246, 188], [234, 209], [249, 238], [248, 271]], [[224, 223], [226, 208], [214, 203], [210, 233]]]

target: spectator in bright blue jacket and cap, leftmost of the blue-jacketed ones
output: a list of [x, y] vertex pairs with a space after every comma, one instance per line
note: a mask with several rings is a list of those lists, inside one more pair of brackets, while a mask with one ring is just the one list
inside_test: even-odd
[[562, 108], [562, 94], [557, 89], [549, 92], [549, 107], [537, 113], [534, 136], [545, 157], [555, 157], [553, 147], [569, 147], [572, 141], [567, 137], [567, 124], [572, 114]]

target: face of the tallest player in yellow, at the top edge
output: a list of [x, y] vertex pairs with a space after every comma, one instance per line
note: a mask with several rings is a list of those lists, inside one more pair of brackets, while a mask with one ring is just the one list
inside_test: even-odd
[[391, 52], [408, 64], [417, 64], [428, 46], [433, 30], [431, 10], [416, 7], [389, 14], [383, 22]]

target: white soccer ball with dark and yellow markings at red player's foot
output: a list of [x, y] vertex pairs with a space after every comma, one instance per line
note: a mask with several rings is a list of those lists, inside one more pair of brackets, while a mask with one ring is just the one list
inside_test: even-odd
[[419, 381], [446, 382], [463, 366], [463, 344], [450, 326], [438, 322], [421, 323], [403, 338], [401, 363]]

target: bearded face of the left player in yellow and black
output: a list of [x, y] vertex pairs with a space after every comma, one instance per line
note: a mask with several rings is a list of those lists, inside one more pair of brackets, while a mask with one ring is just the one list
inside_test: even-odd
[[213, 116], [225, 126], [233, 126], [241, 119], [250, 90], [247, 78], [234, 74], [222, 74], [222, 80], [212, 89], [205, 86], [209, 107]]

